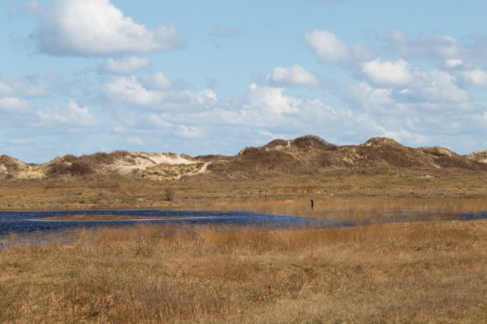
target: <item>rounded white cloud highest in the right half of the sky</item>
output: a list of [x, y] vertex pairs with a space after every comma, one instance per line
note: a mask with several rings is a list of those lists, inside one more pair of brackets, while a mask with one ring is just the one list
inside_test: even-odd
[[315, 28], [303, 36], [304, 41], [324, 62], [343, 62], [349, 58], [349, 49], [344, 41], [329, 30]]

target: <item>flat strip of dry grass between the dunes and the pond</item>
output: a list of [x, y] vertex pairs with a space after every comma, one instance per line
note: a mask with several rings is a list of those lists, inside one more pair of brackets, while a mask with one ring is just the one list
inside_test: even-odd
[[[198, 164], [174, 168], [183, 169], [168, 167], [169, 173], [165, 174], [181, 175], [193, 170], [186, 168], [196, 171]], [[293, 213], [303, 213], [314, 199], [315, 214], [319, 214], [320, 208], [330, 209], [332, 203], [349, 199], [411, 200], [427, 205], [436, 199], [448, 202], [450, 198], [483, 198], [487, 195], [486, 184], [487, 172], [430, 169], [337, 169], [317, 175], [285, 176], [269, 171], [255, 178], [237, 171], [209, 171], [184, 175], [179, 180], [106, 174], [0, 181], [0, 209], [200, 208], [211, 204], [225, 208], [240, 200], [302, 200], [302, 208]], [[165, 188], [173, 190], [170, 200]]]

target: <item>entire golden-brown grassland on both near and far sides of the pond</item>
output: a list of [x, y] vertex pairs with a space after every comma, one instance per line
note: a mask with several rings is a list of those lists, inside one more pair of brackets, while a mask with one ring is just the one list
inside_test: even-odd
[[[441, 220], [487, 210], [485, 172], [402, 172], [0, 183], [0, 209], [188, 208], [374, 221], [51, 234], [71, 243], [0, 250], [0, 323], [487, 323], [487, 220]], [[402, 210], [430, 211], [438, 221], [381, 222]]]

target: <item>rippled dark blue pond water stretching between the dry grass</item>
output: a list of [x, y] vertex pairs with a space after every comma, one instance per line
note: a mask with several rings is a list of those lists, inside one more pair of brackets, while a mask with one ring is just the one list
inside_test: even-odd
[[[43, 221], [42, 218], [62, 215], [124, 215], [144, 217], [142, 220], [112, 220], [112, 221]], [[381, 222], [410, 222], [428, 221], [432, 219], [428, 212], [408, 212], [391, 214], [381, 219]], [[437, 219], [437, 214], [434, 215]], [[475, 220], [486, 219], [487, 212], [458, 213], [442, 215], [443, 219]], [[127, 226], [134, 222], [172, 223], [188, 225], [222, 224], [235, 226], [256, 226], [265, 228], [292, 227], [328, 227], [353, 226], [357, 222], [326, 219], [306, 219], [296, 216], [262, 215], [258, 213], [244, 213], [241, 211], [195, 211], [169, 209], [127, 209], [127, 210], [44, 210], [44, 211], [0, 211], [0, 248], [2, 239], [10, 233], [32, 237], [35, 234], [66, 231], [76, 228], [94, 228], [97, 226]], [[373, 222], [367, 218], [358, 222], [367, 224]]]

